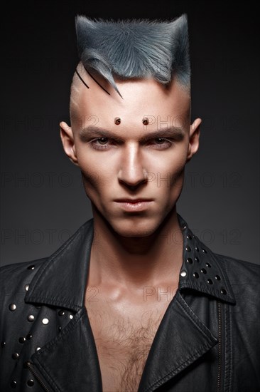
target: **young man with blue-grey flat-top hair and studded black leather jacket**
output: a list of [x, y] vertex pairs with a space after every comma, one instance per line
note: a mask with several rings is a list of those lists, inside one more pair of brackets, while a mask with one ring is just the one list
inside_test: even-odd
[[201, 123], [185, 15], [76, 27], [60, 136], [93, 218], [1, 269], [1, 391], [259, 391], [259, 266], [212, 253], [176, 210]]

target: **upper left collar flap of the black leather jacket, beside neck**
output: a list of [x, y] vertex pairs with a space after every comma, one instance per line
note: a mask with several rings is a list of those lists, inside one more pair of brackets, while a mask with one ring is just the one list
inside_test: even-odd
[[93, 237], [91, 219], [43, 263], [26, 293], [26, 303], [80, 310], [85, 304]]

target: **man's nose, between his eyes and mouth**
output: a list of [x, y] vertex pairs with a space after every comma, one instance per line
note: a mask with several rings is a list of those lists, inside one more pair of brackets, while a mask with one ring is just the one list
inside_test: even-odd
[[139, 146], [135, 144], [126, 146], [121, 157], [119, 182], [124, 182], [129, 187], [136, 187], [147, 181], [146, 172]]

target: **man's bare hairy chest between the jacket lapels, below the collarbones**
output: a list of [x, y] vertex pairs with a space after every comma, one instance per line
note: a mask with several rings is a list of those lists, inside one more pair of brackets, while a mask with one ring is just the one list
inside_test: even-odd
[[137, 392], [154, 336], [169, 302], [118, 309], [86, 304], [97, 347], [103, 392]]

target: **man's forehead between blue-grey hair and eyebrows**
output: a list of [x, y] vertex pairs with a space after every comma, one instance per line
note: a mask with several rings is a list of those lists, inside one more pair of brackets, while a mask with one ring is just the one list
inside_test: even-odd
[[190, 96], [174, 80], [168, 86], [163, 86], [152, 78], [127, 81], [115, 79], [123, 97], [121, 98], [102, 76], [92, 74], [107, 92], [86, 71], [81, 71], [80, 76], [89, 88], [75, 76], [70, 105], [72, 120], [77, 128], [80, 127], [82, 118], [90, 117], [106, 127], [114, 126], [114, 118], [119, 117], [120, 129], [123, 128], [122, 125], [124, 129], [143, 125], [143, 117], [149, 118], [154, 129], [158, 128], [160, 123], [166, 125], [170, 122], [173, 125], [175, 122], [176, 125], [177, 121], [180, 126], [180, 123], [187, 123], [189, 120]]

